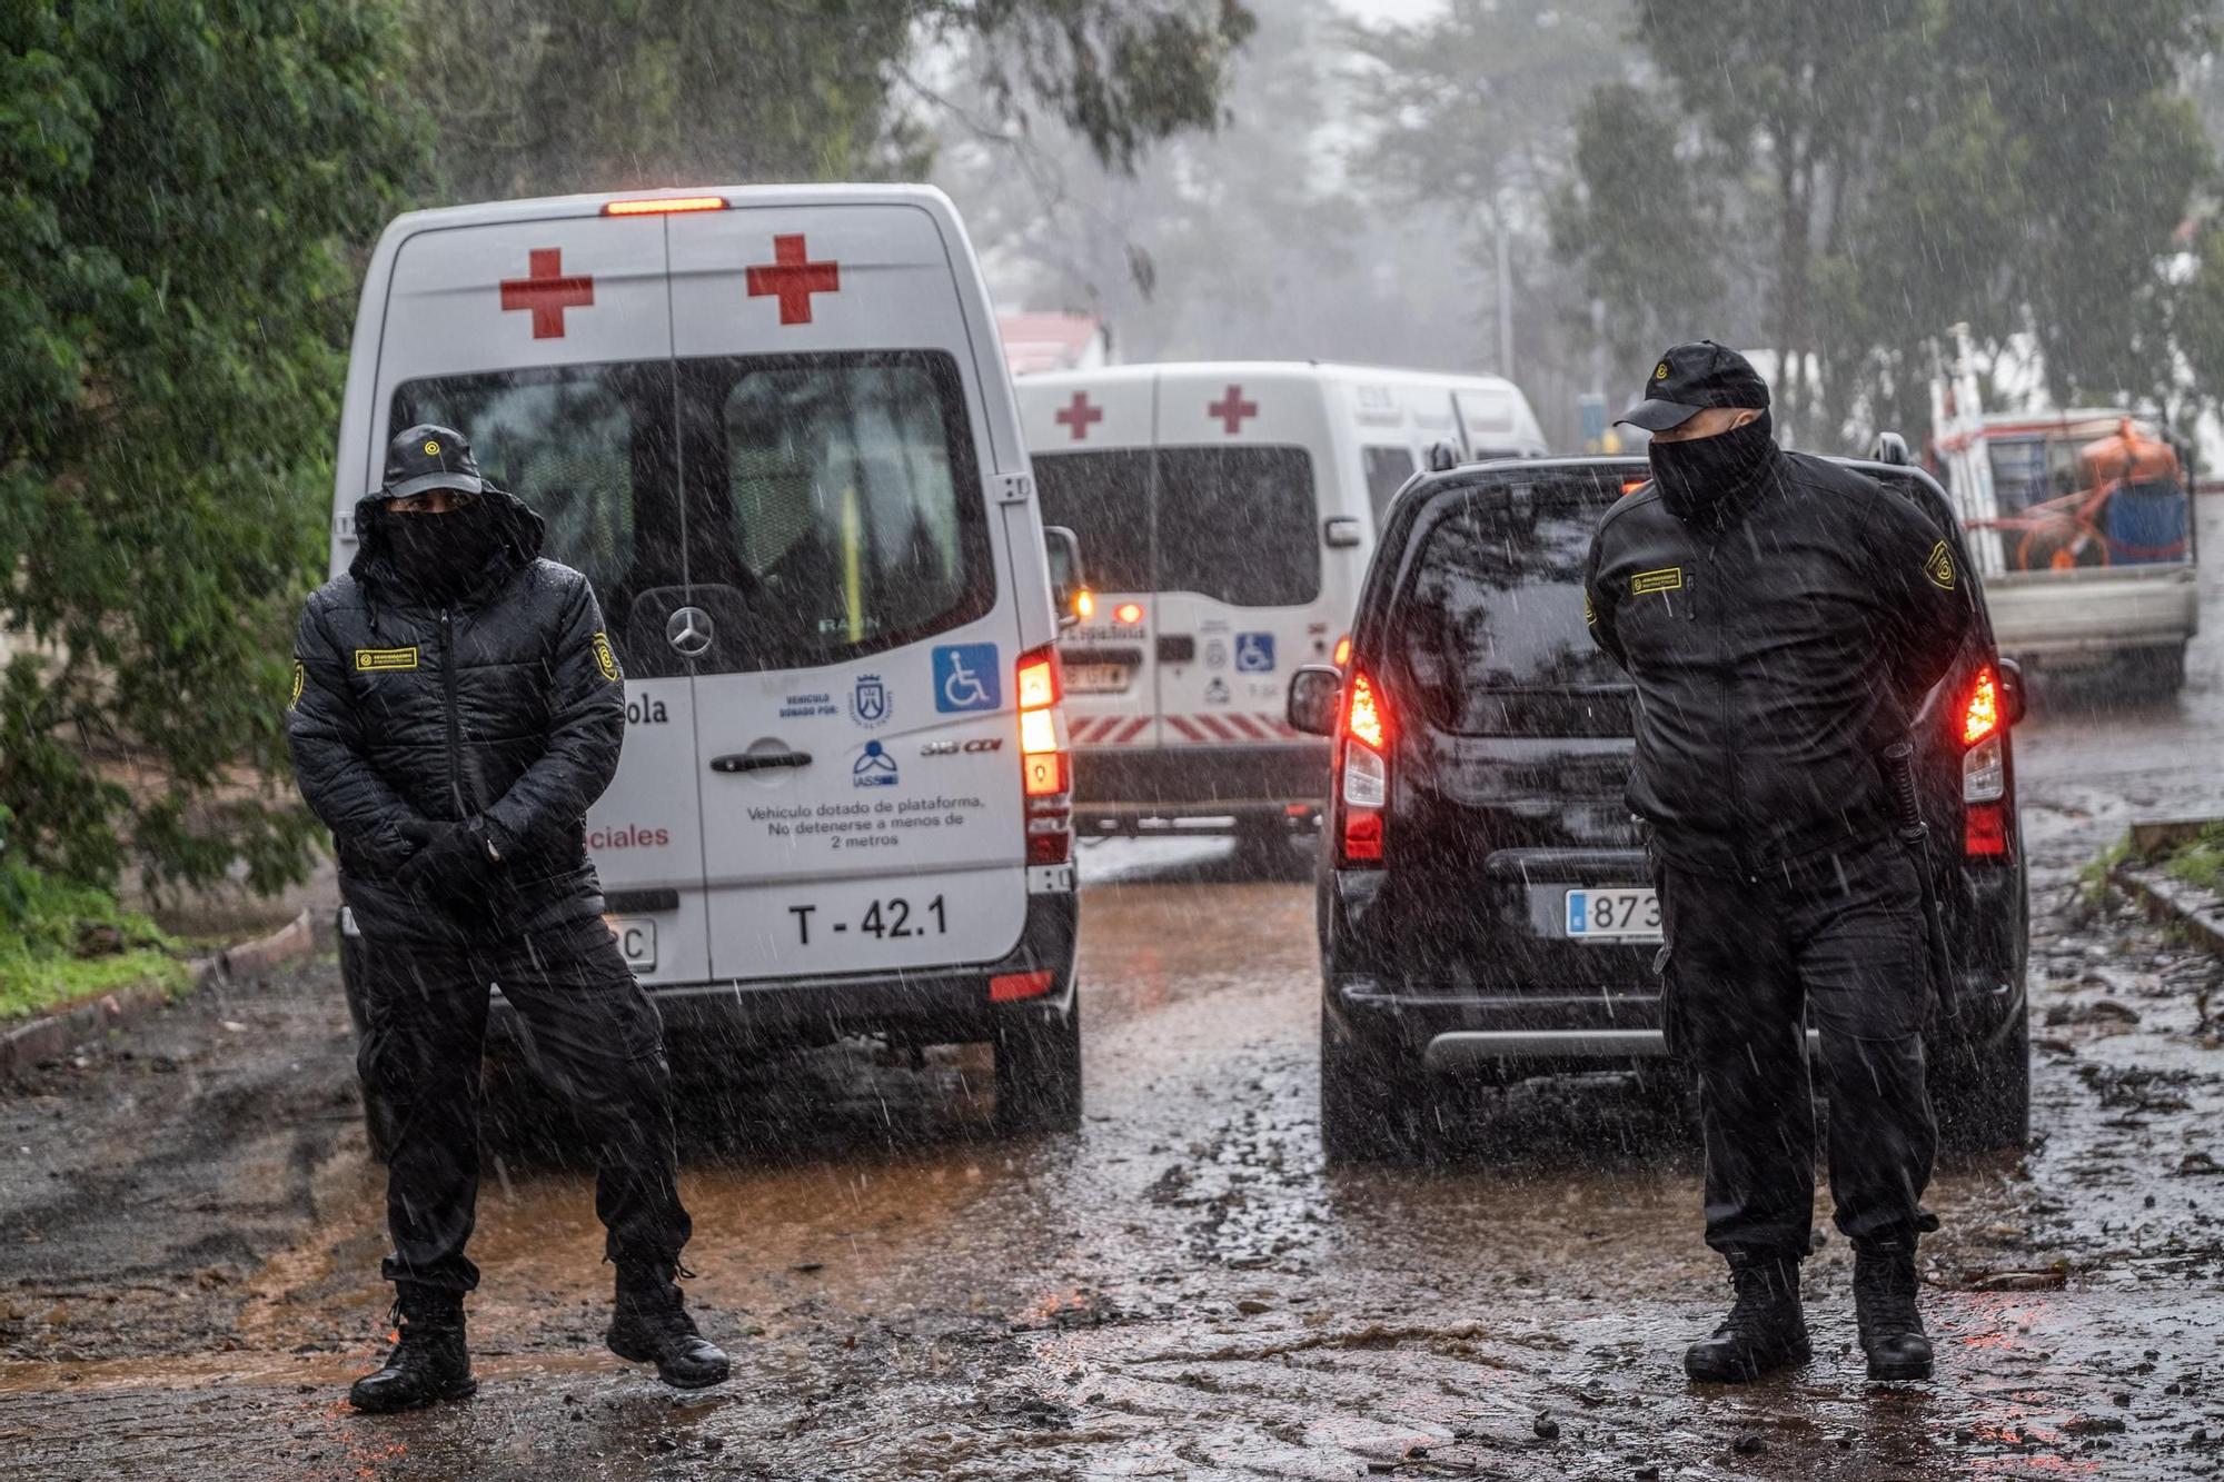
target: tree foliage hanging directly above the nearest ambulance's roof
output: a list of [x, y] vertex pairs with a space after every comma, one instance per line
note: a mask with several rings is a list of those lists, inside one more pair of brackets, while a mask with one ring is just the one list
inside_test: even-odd
[[460, 200], [925, 167], [930, 53], [963, 49], [1003, 118], [1099, 158], [1217, 118], [1234, 0], [403, 0], [411, 78]]

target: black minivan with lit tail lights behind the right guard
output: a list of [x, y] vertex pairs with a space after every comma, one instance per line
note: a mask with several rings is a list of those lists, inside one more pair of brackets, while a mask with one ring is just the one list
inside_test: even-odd
[[[1993, 645], [1937, 483], [1848, 465], [1915, 503], [1970, 572], [1970, 639], [1910, 734], [1950, 964], [1930, 1095], [1948, 1148], [2022, 1146], [2028, 883], [2008, 739], [2022, 676]], [[1290, 681], [1290, 723], [1334, 739], [1319, 870], [1332, 1159], [1419, 1150], [1457, 1079], [1666, 1055], [1659, 903], [1624, 801], [1637, 699], [1583, 625], [1590, 534], [1646, 478], [1641, 458], [1417, 476], [1379, 534], [1348, 661]]]

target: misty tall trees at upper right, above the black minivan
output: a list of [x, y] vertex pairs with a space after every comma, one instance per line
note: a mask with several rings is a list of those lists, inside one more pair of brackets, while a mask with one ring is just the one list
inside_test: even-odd
[[[1786, 418], [1819, 443], [1919, 427], [1957, 320], [2031, 332], [2057, 401], [2168, 396], [2166, 263], [2213, 169], [2180, 87], [2204, 0], [1635, 0], [1632, 22], [1655, 129], [1595, 93], [1561, 218], [1617, 316], [1659, 309], [1612, 225], [1697, 240], [1744, 289], [1724, 334], [1784, 352]], [[1668, 158], [1688, 189], [1628, 194]]]

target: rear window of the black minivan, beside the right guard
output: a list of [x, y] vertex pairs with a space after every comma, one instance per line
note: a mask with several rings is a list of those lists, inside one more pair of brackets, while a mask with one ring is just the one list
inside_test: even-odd
[[1421, 708], [1468, 737], [1626, 737], [1628, 679], [1583, 623], [1583, 565], [1610, 481], [1483, 485], [1414, 525], [1419, 550], [1390, 623]]

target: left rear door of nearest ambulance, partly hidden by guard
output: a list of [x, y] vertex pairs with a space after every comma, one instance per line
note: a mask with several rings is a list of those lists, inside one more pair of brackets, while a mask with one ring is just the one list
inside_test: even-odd
[[[627, 728], [618, 777], [587, 812], [587, 852], [634, 972], [701, 981], [694, 703], [663, 621], [641, 621], [649, 592], [687, 583], [665, 218], [554, 209], [565, 214], [436, 214], [400, 243], [369, 467], [400, 427], [458, 427], [487, 476], [547, 521], [543, 554], [594, 581], [625, 670]], [[467, 625], [456, 643], [469, 648]]]

